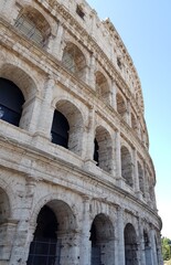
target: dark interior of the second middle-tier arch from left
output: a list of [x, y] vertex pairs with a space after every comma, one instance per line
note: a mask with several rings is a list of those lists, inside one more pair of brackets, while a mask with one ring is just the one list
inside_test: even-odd
[[55, 109], [52, 124], [52, 142], [68, 148], [70, 125], [65, 116]]

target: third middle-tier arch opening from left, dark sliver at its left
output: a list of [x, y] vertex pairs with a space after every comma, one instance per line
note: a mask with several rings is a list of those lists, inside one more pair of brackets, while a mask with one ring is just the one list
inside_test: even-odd
[[113, 141], [110, 134], [103, 126], [97, 126], [95, 131], [94, 160], [97, 166], [107, 172], [111, 172]]

